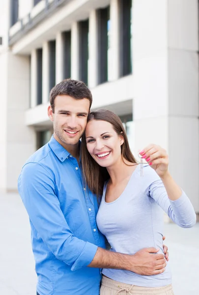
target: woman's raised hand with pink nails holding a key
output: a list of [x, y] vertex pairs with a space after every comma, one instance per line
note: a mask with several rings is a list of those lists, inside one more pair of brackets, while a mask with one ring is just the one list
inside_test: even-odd
[[140, 155], [156, 171], [159, 177], [164, 177], [168, 173], [169, 157], [164, 148], [151, 144], [142, 149]]

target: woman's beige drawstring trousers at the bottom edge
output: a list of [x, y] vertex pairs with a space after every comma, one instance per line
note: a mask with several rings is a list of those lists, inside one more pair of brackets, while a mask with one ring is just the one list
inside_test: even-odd
[[174, 295], [174, 293], [171, 285], [156, 288], [139, 287], [123, 284], [103, 275], [100, 295]]

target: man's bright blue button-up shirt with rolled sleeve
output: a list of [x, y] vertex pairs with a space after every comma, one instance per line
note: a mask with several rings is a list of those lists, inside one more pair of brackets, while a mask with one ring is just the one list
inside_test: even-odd
[[97, 246], [96, 196], [86, 189], [76, 158], [55, 139], [22, 168], [18, 189], [28, 211], [40, 295], [98, 295], [99, 268], [86, 267]]

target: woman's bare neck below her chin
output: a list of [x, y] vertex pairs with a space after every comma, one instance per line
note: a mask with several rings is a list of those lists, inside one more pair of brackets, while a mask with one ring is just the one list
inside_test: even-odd
[[131, 176], [135, 169], [134, 166], [134, 163], [130, 163], [125, 159], [122, 160], [122, 158], [119, 159], [113, 166], [107, 167], [107, 171], [110, 175], [109, 182], [114, 185]]

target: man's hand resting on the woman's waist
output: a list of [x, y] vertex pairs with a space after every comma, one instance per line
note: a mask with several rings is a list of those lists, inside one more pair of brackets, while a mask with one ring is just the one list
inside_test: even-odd
[[[166, 259], [164, 254], [156, 254], [159, 249], [144, 248], [138, 251], [132, 256], [132, 267], [130, 271], [133, 271], [141, 275], [154, 275], [165, 271]], [[131, 258], [129, 257], [129, 260]]]

